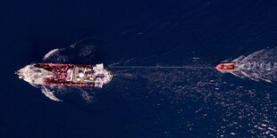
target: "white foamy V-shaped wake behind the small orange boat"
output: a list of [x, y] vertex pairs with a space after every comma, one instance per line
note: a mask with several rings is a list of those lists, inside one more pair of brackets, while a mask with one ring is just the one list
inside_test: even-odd
[[249, 54], [247, 57], [240, 56], [232, 61], [237, 62], [238, 71], [231, 74], [250, 78], [255, 81], [264, 80], [268, 83], [276, 82], [277, 78], [277, 47], [266, 48], [256, 53]]

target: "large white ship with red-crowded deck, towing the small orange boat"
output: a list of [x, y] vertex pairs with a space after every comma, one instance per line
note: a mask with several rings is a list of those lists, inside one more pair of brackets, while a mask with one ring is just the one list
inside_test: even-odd
[[113, 74], [103, 64], [74, 65], [62, 63], [36, 63], [18, 70], [16, 74], [31, 85], [79, 85], [102, 87]]

